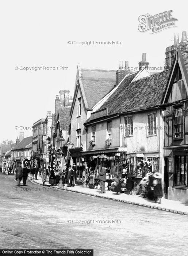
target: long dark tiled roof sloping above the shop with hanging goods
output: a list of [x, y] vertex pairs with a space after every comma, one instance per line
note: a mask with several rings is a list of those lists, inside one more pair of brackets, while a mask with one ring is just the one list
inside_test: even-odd
[[[133, 83], [131, 82], [138, 72], [127, 76], [99, 110], [107, 107], [108, 116], [111, 116], [159, 106], [165, 91], [169, 73], [170, 70], [167, 69]], [[89, 121], [90, 118], [85, 123]]]

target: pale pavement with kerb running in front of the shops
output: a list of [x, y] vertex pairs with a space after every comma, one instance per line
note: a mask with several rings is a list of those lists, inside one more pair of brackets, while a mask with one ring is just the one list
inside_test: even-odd
[[[28, 177], [28, 179], [30, 179], [30, 177]], [[43, 184], [41, 177], [38, 177], [38, 180], [33, 180], [32, 182], [37, 183], [39, 185]], [[45, 182], [45, 186], [50, 186], [50, 184], [48, 182]], [[154, 203], [154, 201], [150, 201], [147, 198], [143, 198], [141, 195], [127, 195], [125, 193], [119, 193], [118, 195], [116, 195], [116, 193], [112, 191], [106, 191], [105, 194], [100, 194], [99, 193], [100, 191], [97, 189], [83, 188], [80, 185], [76, 185], [75, 187], [69, 187], [69, 188], [67, 187], [66, 184], [64, 186], [57, 185], [57, 186], [51, 186], [51, 187], [59, 188], [59, 189], [70, 191], [70, 192], [81, 193], [84, 195], [111, 199], [111, 200], [115, 200], [123, 203], [145, 206], [145, 207], [154, 208], [162, 211], [173, 212], [176, 214], [188, 215], [188, 206], [186, 206], [183, 202], [168, 200], [165, 198], [162, 198], [161, 204], [159, 204], [158, 202]]]

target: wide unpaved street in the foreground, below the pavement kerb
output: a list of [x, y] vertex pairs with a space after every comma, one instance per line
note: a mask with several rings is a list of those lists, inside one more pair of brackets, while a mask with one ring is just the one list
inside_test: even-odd
[[1, 249], [187, 255], [187, 216], [14, 179], [0, 173]]

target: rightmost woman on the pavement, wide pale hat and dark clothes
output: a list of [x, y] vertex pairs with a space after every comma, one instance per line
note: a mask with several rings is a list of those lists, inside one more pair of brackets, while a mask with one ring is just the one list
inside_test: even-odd
[[153, 174], [153, 178], [154, 179], [152, 187], [155, 203], [157, 203], [157, 200], [159, 198], [159, 203], [161, 204], [161, 197], [163, 196], [161, 174], [156, 172]]

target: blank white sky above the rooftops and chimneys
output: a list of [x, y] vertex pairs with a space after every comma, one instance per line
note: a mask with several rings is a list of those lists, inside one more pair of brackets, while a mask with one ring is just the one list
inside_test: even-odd
[[[188, 31], [183, 6], [183, 0], [1, 1], [0, 142], [15, 141], [23, 131], [25, 138], [31, 136], [32, 124], [47, 111], [54, 113], [60, 90], [73, 95], [78, 63], [82, 68], [117, 70], [123, 60], [134, 68], [145, 52], [150, 67], [163, 68], [165, 48], [173, 44], [174, 33], [181, 40], [181, 32]], [[139, 16], [169, 10], [176, 27], [158, 33], [138, 30]]]

